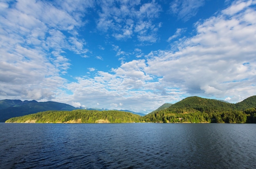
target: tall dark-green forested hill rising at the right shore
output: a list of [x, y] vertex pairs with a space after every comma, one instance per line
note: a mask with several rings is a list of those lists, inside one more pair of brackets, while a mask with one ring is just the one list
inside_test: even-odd
[[232, 104], [220, 100], [188, 97], [167, 109], [146, 115], [146, 122], [256, 122], [256, 96]]

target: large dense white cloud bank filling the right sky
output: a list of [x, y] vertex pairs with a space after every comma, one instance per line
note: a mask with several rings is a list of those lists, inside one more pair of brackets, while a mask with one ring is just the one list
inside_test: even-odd
[[198, 22], [197, 35], [180, 42], [179, 51], [150, 53], [145, 72], [191, 95], [251, 96], [256, 92], [255, 14], [247, 9], [230, 18], [220, 14]]

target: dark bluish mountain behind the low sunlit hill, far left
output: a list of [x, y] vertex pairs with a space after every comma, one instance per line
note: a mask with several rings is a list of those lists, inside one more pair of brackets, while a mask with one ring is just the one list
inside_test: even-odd
[[37, 102], [36, 100], [0, 100], [0, 122], [31, 113], [47, 110], [74, 110], [75, 107], [59, 102]]

